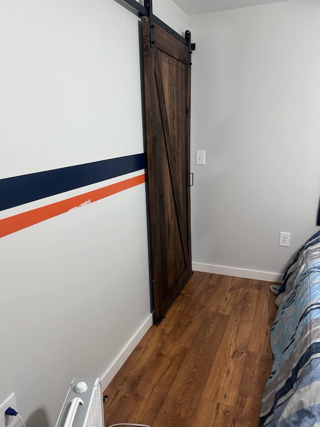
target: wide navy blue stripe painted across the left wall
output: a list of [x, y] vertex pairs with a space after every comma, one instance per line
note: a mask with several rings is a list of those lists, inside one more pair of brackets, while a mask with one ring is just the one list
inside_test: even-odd
[[0, 211], [144, 168], [141, 153], [0, 179]]

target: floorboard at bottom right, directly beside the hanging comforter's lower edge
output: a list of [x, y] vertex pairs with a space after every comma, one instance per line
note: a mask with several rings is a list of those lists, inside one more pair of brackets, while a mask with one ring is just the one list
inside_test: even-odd
[[248, 352], [236, 400], [232, 427], [258, 425], [264, 385], [270, 375], [273, 359], [263, 354]]

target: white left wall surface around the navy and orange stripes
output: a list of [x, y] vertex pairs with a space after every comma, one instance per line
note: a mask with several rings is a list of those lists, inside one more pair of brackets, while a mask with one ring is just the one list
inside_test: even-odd
[[[113, 0], [0, 0], [0, 178], [142, 153], [138, 41]], [[1, 238], [0, 260], [0, 401], [51, 427], [150, 319], [144, 185]]]

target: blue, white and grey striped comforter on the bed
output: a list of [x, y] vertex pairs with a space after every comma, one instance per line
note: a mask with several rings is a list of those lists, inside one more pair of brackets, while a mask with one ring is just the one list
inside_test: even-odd
[[275, 303], [259, 426], [320, 427], [320, 231], [287, 268]]

